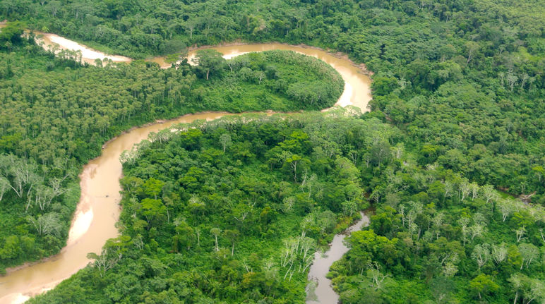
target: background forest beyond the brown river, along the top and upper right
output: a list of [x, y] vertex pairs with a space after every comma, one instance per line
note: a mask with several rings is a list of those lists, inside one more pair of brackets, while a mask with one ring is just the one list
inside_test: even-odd
[[[439, 162], [544, 194], [543, 1], [32, 1], [0, 16], [144, 58], [234, 39], [344, 51], [375, 75], [373, 110]], [[469, 155], [478, 153], [477, 157]]]

